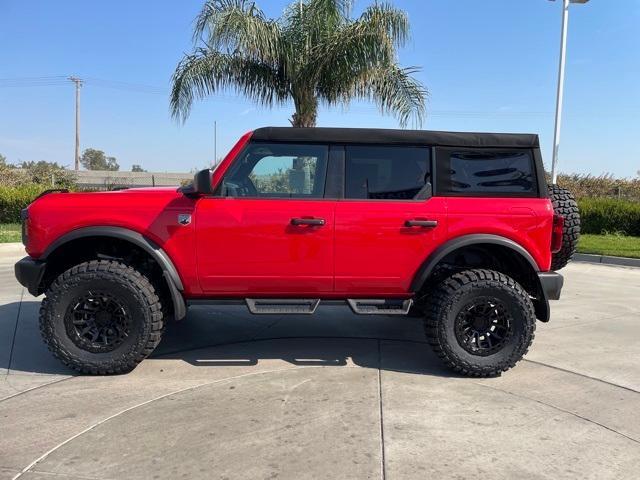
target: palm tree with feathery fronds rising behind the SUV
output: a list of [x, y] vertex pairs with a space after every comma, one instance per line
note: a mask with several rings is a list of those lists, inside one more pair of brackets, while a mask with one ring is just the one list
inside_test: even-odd
[[195, 50], [172, 78], [171, 112], [184, 121], [194, 99], [232, 89], [264, 106], [293, 100], [294, 127], [313, 127], [318, 104], [375, 102], [404, 127], [420, 124], [427, 91], [401, 68], [396, 48], [409, 34], [405, 12], [374, 3], [360, 18], [353, 0], [292, 3], [280, 19], [250, 0], [207, 0], [196, 18]]

